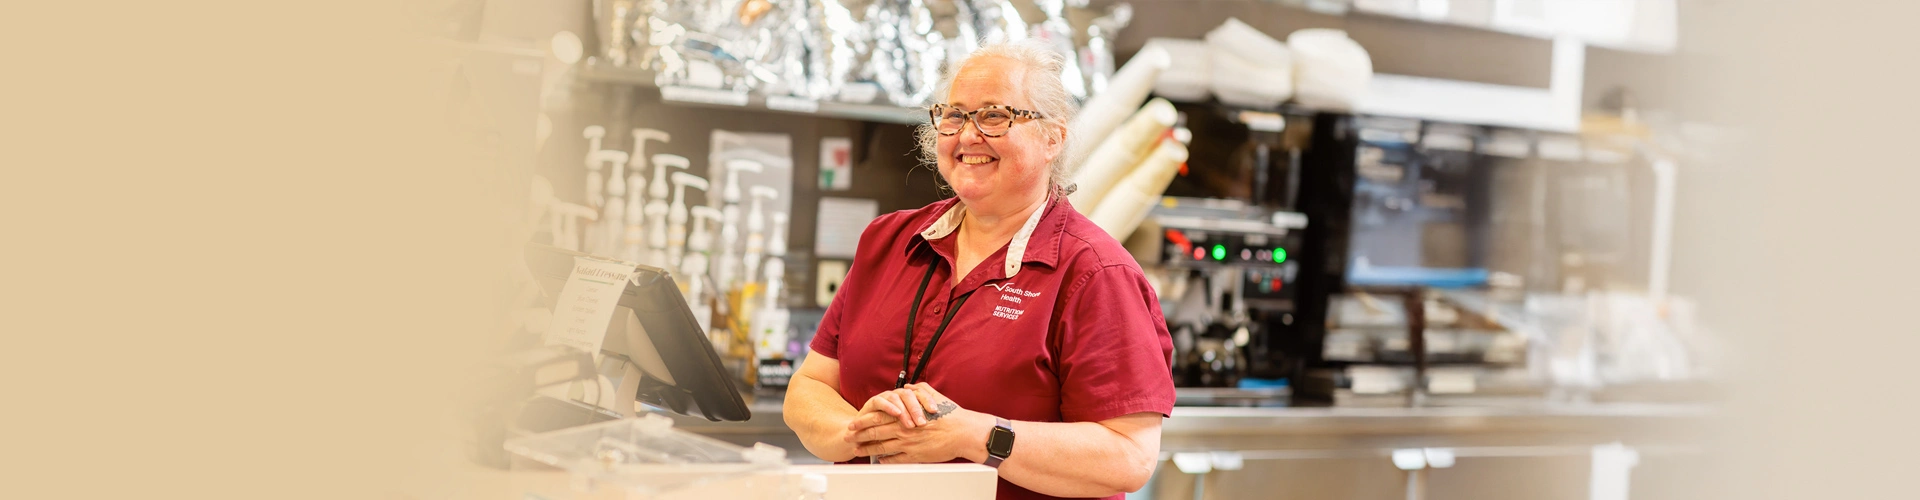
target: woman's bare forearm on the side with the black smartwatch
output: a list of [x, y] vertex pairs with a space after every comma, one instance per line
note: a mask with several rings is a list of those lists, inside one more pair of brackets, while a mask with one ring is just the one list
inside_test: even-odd
[[[987, 415], [987, 429], [993, 427]], [[1110, 421], [1014, 423], [1014, 454], [1000, 477], [1052, 496], [1112, 496], [1135, 492], [1160, 462], [1160, 415], [1139, 413]], [[987, 460], [987, 435], [966, 458]]]

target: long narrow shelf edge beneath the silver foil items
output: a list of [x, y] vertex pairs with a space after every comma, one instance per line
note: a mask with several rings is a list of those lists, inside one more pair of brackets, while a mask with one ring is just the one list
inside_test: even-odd
[[927, 112], [922, 108], [902, 108], [889, 104], [851, 104], [851, 102], [831, 102], [831, 100], [822, 102], [822, 100], [793, 98], [793, 96], [760, 96], [753, 92], [720, 90], [720, 88], [655, 87], [653, 71], [607, 67], [593, 62], [582, 63], [578, 77], [582, 81], [593, 81], [593, 83], [653, 87], [660, 90], [662, 102], [678, 106], [776, 112], [776, 113], [877, 121], [877, 123], [902, 123], [902, 125], [927, 123]]

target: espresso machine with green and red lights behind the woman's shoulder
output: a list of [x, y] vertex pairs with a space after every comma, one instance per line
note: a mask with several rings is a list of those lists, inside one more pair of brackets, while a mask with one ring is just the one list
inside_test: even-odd
[[1190, 158], [1125, 240], [1160, 292], [1183, 406], [1281, 406], [1302, 360], [1294, 210], [1306, 113], [1177, 104]]

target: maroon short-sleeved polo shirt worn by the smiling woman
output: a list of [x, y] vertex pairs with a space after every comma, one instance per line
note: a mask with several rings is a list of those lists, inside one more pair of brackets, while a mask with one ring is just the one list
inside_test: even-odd
[[[948, 287], [964, 210], [958, 200], [902, 210], [860, 235], [812, 342], [839, 360], [847, 404], [860, 408], [895, 387], [910, 308], [920, 310], [910, 358], [918, 367], [947, 310], [972, 294], [918, 379], [960, 408], [1016, 421], [1173, 412], [1173, 340], [1154, 288], [1119, 242], [1054, 196], [1012, 242]], [[929, 265], [933, 281], [914, 304]], [[1016, 438], [1016, 460], [1020, 448]], [[1052, 496], [1000, 479], [998, 498]]]

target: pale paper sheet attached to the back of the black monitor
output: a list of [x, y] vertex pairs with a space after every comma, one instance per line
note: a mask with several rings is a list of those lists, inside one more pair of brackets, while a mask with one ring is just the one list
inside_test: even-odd
[[620, 304], [634, 263], [574, 258], [574, 273], [566, 277], [561, 298], [553, 300], [553, 323], [547, 323], [547, 344], [563, 344], [599, 356], [607, 338], [607, 323]]

